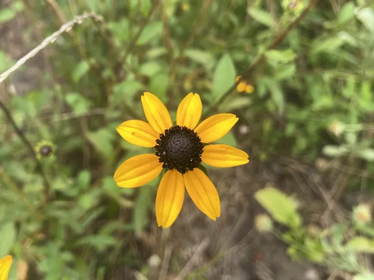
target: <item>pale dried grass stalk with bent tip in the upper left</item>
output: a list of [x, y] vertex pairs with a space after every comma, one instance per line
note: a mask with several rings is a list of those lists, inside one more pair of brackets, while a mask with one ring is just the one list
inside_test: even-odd
[[67, 32], [73, 28], [75, 24], [81, 24], [84, 19], [86, 18], [93, 18], [94, 20], [101, 21], [102, 18], [99, 15], [93, 14], [93, 13], [86, 13], [80, 16], [76, 16], [73, 20], [65, 23], [60, 27], [58, 31], [53, 33], [52, 35], [45, 38], [37, 47], [35, 47], [33, 50], [31, 50], [29, 53], [27, 53], [25, 56], [23, 56], [19, 61], [16, 62], [15, 65], [13, 65], [10, 69], [6, 70], [0, 75], [0, 83], [4, 81], [12, 72], [17, 70], [20, 66], [22, 66], [27, 60], [35, 56], [38, 52], [40, 52], [42, 49], [44, 49], [47, 45], [53, 43], [59, 35], [61, 35], [64, 32]]

